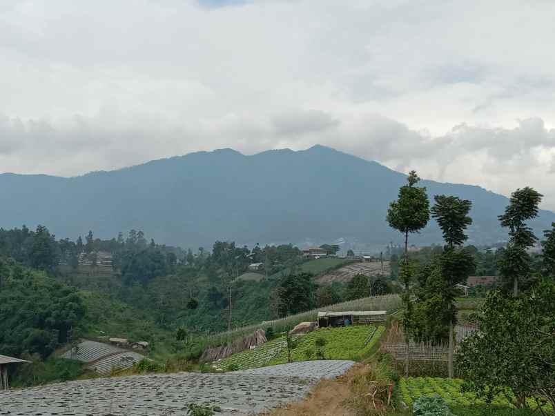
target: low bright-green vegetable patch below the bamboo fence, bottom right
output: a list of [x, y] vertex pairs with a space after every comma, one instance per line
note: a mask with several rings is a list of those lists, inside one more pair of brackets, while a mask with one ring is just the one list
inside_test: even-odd
[[[440, 396], [451, 407], [468, 407], [485, 404], [482, 399], [476, 398], [474, 393], [463, 393], [462, 379], [444, 379], [440, 377], [408, 377], [400, 379], [399, 393], [400, 399], [407, 406], [412, 406], [413, 401], [421, 396]], [[499, 395], [491, 403], [494, 406], [511, 407], [505, 396]], [[528, 399], [530, 407], [535, 408], [536, 401]]]

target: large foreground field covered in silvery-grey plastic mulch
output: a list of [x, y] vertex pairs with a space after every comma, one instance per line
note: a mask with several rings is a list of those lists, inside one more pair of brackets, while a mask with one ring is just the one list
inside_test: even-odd
[[184, 416], [191, 414], [190, 403], [217, 406], [216, 415], [257, 415], [302, 399], [318, 379], [341, 375], [353, 364], [310, 361], [226, 374], [135, 375], [48, 384], [0, 391], [0, 415]]

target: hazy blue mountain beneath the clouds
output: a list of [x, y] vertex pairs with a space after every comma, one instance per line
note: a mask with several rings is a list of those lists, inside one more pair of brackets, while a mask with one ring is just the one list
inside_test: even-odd
[[[347, 239], [384, 246], [400, 242], [385, 221], [406, 176], [324, 146], [269, 150], [246, 156], [231, 149], [195, 152], [79, 177], [0, 175], [0, 226], [46, 225], [57, 237], [93, 230], [114, 237], [144, 230], [157, 242], [196, 248], [213, 241], [238, 244], [323, 243]], [[497, 215], [508, 199], [478, 186], [422, 181], [430, 197], [457, 195], [473, 202], [474, 244], [506, 238]], [[541, 211], [536, 235], [555, 221]], [[416, 244], [441, 240], [431, 221]]]

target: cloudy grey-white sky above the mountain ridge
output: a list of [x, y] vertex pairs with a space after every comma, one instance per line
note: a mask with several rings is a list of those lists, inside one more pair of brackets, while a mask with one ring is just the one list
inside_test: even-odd
[[554, 21], [552, 0], [2, 0], [0, 172], [321, 143], [555, 210]]

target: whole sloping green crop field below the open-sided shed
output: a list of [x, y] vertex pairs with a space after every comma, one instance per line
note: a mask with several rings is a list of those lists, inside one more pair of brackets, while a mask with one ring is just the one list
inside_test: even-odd
[[[315, 341], [317, 338], [326, 340], [322, 348], [326, 359], [354, 360], [360, 359], [373, 348], [380, 339], [384, 327], [380, 326], [347, 326], [345, 328], [322, 328], [299, 337], [299, 344], [292, 352], [293, 361], [315, 359]], [[310, 357], [307, 350], [312, 350]], [[284, 335], [266, 342], [252, 350], [242, 351], [213, 363], [217, 370], [245, 370], [263, 366], [285, 364], [287, 348]]]

